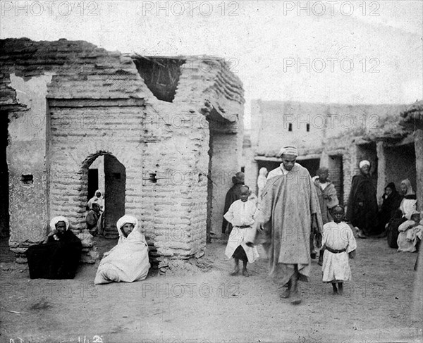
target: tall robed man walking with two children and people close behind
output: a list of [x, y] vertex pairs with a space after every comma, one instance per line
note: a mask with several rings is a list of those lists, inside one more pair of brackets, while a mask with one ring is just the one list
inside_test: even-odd
[[343, 207], [338, 205], [336, 189], [328, 180], [329, 170], [319, 169], [312, 179], [296, 162], [298, 150], [294, 146], [283, 147], [280, 156], [281, 165], [271, 170], [266, 180], [266, 170], [259, 172], [259, 208], [246, 204], [249, 189], [240, 185], [243, 199], [233, 202], [224, 215], [233, 224], [226, 247], [226, 256], [235, 261], [231, 274], [238, 273], [239, 260], [243, 260], [243, 275], [247, 276], [247, 262], [255, 261], [256, 245], [262, 244], [270, 275], [286, 287], [281, 297], [299, 304], [298, 281], [309, 280], [314, 246], [323, 245], [324, 252], [319, 256], [322, 280], [332, 283], [334, 293], [342, 294], [343, 281], [350, 280], [348, 258], [355, 256], [357, 245], [350, 226], [343, 222]]

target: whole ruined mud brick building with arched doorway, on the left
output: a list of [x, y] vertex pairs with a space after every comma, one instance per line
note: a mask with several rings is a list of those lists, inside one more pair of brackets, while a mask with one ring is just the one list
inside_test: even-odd
[[4, 39], [0, 82], [1, 227], [20, 261], [58, 215], [97, 258], [85, 204], [99, 156], [108, 235], [133, 214], [159, 266], [204, 254], [242, 152], [243, 87], [224, 61]]

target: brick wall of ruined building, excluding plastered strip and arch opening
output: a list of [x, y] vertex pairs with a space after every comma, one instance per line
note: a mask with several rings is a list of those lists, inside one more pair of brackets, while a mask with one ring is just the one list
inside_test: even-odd
[[[204, 63], [210, 68], [204, 70], [190, 61], [181, 68], [170, 103], [159, 101], [133, 60], [118, 52], [66, 40], [6, 39], [0, 45], [5, 48], [0, 109], [25, 110], [11, 87], [11, 73], [51, 78], [48, 87], [44, 81], [47, 116], [46, 94], [39, 96], [47, 123], [47, 132], [39, 137], [44, 142], [39, 154], [46, 159], [39, 169], [47, 172], [44, 205], [37, 204], [45, 208], [42, 220], [64, 215], [74, 230], [83, 230], [88, 168], [98, 156], [114, 156], [125, 168], [125, 212], [140, 218], [159, 266], [204, 254], [207, 208], [219, 207], [221, 187], [240, 168], [243, 89], [228, 66], [208, 59]], [[209, 122], [216, 123], [213, 130]], [[211, 132], [216, 135], [212, 159], [222, 161], [210, 164], [211, 175], [223, 176], [212, 189], [213, 204], [207, 204]], [[32, 138], [28, 143], [33, 145]], [[12, 155], [27, 157], [20, 151]], [[22, 201], [22, 195], [11, 201]], [[11, 231], [19, 227], [14, 224]]]

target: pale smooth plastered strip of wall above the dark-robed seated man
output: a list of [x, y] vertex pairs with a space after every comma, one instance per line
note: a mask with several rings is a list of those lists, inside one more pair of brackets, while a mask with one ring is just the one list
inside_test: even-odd
[[[7, 147], [11, 250], [23, 254], [45, 238], [47, 216], [46, 94], [51, 75], [26, 80], [10, 75], [16, 101], [26, 110], [9, 115]], [[25, 261], [18, 258], [18, 261]]]

